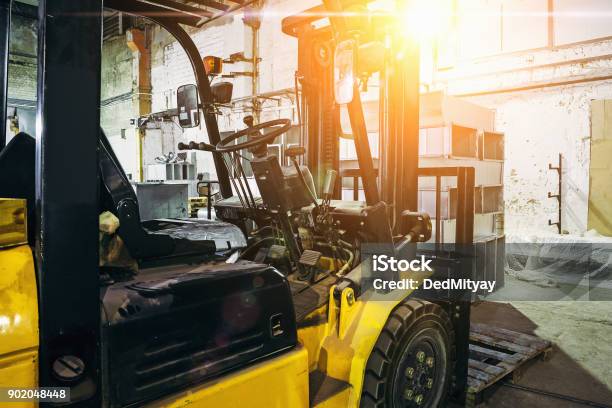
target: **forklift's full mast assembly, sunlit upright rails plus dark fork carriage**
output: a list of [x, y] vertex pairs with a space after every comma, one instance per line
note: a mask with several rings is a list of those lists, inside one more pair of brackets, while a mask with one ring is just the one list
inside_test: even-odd
[[[359, 176], [368, 205], [379, 201], [387, 204], [390, 224], [394, 233], [401, 229], [401, 216], [406, 211], [418, 211], [419, 176], [456, 177], [460, 186], [459, 208], [456, 224], [456, 247], [452, 255], [437, 252], [433, 256], [442, 263], [454, 265], [457, 277], [469, 277], [472, 273], [473, 222], [474, 222], [474, 169], [473, 168], [436, 168], [419, 169], [419, 95], [420, 60], [418, 42], [414, 38], [401, 37], [393, 30], [382, 33], [380, 27], [371, 26], [358, 30], [365, 19], [359, 19], [359, 10], [365, 14], [367, 1], [363, 0], [323, 0], [323, 5], [313, 7], [304, 13], [283, 20], [285, 34], [298, 39], [298, 72], [302, 83], [305, 120], [307, 129], [308, 164], [314, 166], [315, 180], [320, 186], [325, 168], [338, 170], [338, 138], [341, 134], [338, 105], [334, 101], [334, 51], [338, 42], [347, 38], [357, 39], [357, 43], [390, 40], [391, 47], [401, 52], [385, 52], [384, 63], [379, 71], [379, 141], [380, 157], [378, 179], [370, 151], [360, 89], [355, 85], [353, 99], [347, 105], [351, 130], [357, 153]], [[354, 12], [343, 13], [349, 10]], [[355, 15], [357, 17], [355, 17]], [[355, 19], [359, 19], [356, 21]], [[328, 19], [330, 24], [318, 24]], [[353, 20], [351, 20], [353, 19]], [[317, 27], [319, 26], [319, 27]], [[384, 38], [387, 36], [387, 38]], [[394, 50], [398, 51], [398, 50]], [[367, 56], [366, 56], [367, 58]], [[304, 117], [303, 116], [303, 117]], [[325, 152], [325, 155], [321, 154]], [[437, 187], [439, 188], [439, 182]], [[440, 200], [437, 200], [437, 206]], [[439, 212], [439, 211], [437, 211]], [[437, 219], [439, 219], [439, 215]], [[416, 250], [414, 246], [413, 250]], [[442, 267], [441, 269], [444, 269]], [[421, 293], [427, 296], [425, 293]], [[470, 325], [469, 299], [431, 299], [443, 305], [453, 317], [456, 333], [456, 365], [453, 374], [453, 394], [461, 398], [467, 384], [468, 344]]]

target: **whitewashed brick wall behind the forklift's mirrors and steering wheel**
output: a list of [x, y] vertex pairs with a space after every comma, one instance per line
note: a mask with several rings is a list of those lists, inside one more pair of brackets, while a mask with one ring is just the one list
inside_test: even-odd
[[[295, 2], [289, 0], [270, 1], [263, 9], [263, 21], [259, 34], [259, 52], [262, 59], [259, 70], [259, 92], [271, 92], [293, 87], [293, 76], [297, 66], [297, 41], [281, 32], [283, 17], [297, 13], [316, 1]], [[200, 30], [191, 30], [192, 36], [202, 56], [215, 55], [227, 58], [230, 54], [244, 52], [250, 57], [251, 29], [242, 22], [238, 13], [220, 19]], [[164, 30], [156, 28], [152, 40], [152, 103], [153, 111], [161, 111], [176, 106], [176, 89], [180, 85], [194, 83], [193, 70], [182, 47]], [[226, 64], [224, 72], [250, 71], [249, 63]], [[234, 98], [251, 95], [251, 78], [236, 77], [230, 79], [234, 84]], [[283, 98], [279, 108], [276, 103], [264, 102], [261, 120], [278, 117], [294, 118], [291, 101]], [[250, 114], [250, 101], [238, 104], [235, 109], [223, 109], [218, 116], [221, 131], [234, 131], [244, 127], [242, 118]], [[206, 127], [202, 123], [198, 128], [186, 129], [182, 141], [208, 141]], [[168, 153], [164, 151], [164, 153]], [[209, 153], [198, 152], [198, 172], [215, 175], [215, 168]]]

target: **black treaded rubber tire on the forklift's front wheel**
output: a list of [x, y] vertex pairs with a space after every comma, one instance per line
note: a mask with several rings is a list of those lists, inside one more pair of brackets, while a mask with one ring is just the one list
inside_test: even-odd
[[[416, 404], [403, 400], [398, 393], [403, 394], [402, 381], [411, 381], [401, 378], [413, 358], [409, 350], [421, 342], [431, 343], [428, 347], [432, 355], [438, 355], [438, 360], [433, 360], [435, 381], [431, 391], [425, 391], [426, 400]], [[391, 313], [368, 358], [360, 407], [444, 407], [454, 368], [455, 332], [448, 314], [434, 303], [407, 300]]]

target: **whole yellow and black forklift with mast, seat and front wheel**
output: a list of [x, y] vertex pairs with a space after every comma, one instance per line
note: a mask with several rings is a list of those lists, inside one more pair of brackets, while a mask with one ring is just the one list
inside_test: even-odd
[[[243, 6], [202, 3], [220, 14]], [[3, 1], [1, 10], [4, 116], [10, 4]], [[379, 188], [359, 98], [365, 60], [358, 58], [366, 37], [379, 35], [378, 20], [343, 17], [364, 6], [325, 1], [284, 20], [283, 31], [298, 37], [300, 50], [316, 51], [318, 65], [299, 56], [304, 147], [288, 148], [292, 165], [281, 166], [266, 146], [290, 121], [219, 134], [215, 106], [227, 90], [211, 87], [184, 28], [219, 14], [174, 0], [40, 1], [37, 134], [18, 134], [6, 146], [2, 138], [0, 145], [0, 386], [68, 391], [65, 399], [41, 400], [50, 406], [461, 401], [469, 297], [382, 290], [373, 281], [470, 276], [474, 171], [418, 169], [418, 60], [402, 59], [390, 77], [401, 110], [390, 122], [391, 144], [381, 150], [405, 157], [379, 170], [400, 166], [402, 176]], [[179, 123], [192, 127], [203, 115], [210, 143], [180, 147], [211, 152], [223, 196], [217, 220], [140, 219], [138, 199], [99, 126], [103, 7], [159, 24], [186, 52], [196, 84], [177, 92]], [[313, 28], [313, 18], [328, 16], [331, 24]], [[338, 200], [339, 106], [348, 108], [365, 202]], [[316, 130], [314, 123], [323, 123], [316, 115], [326, 112], [327, 128]], [[314, 153], [321, 151], [328, 153]], [[260, 196], [245, 176], [245, 152]], [[457, 177], [452, 250], [418, 245], [432, 230], [427, 214], [416, 212], [419, 175]], [[381, 191], [401, 198], [389, 207]], [[118, 220], [137, 268], [100, 263], [105, 212]], [[425, 255], [434, 272], [377, 275], [370, 255], [380, 253]]]

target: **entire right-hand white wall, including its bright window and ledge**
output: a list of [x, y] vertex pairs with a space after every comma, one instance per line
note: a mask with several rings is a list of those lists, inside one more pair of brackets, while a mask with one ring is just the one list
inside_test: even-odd
[[[589, 221], [591, 100], [612, 97], [612, 16], [605, 0], [467, 0], [437, 44], [428, 90], [495, 110], [505, 134], [505, 229], [556, 234], [563, 155], [562, 230]], [[609, 187], [609, 186], [608, 186]], [[609, 189], [607, 190], [610, 191]], [[594, 233], [594, 231], [591, 231]]]

